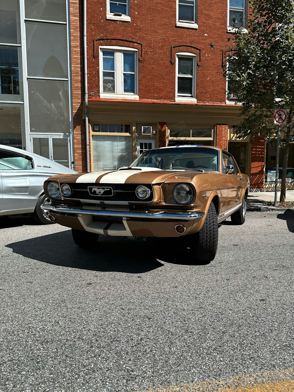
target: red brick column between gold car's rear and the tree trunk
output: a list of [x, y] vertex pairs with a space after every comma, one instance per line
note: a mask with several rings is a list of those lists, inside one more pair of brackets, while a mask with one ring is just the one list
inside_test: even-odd
[[251, 145], [250, 189], [252, 191], [263, 190], [264, 168], [265, 168], [265, 140], [263, 137], [255, 136]]

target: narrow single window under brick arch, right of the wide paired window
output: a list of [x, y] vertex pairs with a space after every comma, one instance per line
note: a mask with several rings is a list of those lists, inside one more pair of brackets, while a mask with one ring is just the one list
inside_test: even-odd
[[196, 55], [177, 54], [176, 96], [196, 98]]

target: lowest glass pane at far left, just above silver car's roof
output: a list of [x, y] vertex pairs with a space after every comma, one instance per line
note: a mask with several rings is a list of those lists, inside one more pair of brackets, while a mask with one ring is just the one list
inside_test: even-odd
[[21, 110], [18, 106], [3, 106], [0, 110], [0, 144], [22, 148]]

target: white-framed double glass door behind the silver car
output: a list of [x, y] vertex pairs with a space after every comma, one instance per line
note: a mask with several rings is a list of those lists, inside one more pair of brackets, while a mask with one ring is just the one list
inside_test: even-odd
[[70, 135], [30, 134], [30, 139], [35, 154], [71, 168]]

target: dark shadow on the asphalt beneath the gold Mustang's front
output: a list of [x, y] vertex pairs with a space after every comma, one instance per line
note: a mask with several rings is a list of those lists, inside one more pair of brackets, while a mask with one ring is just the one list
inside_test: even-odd
[[140, 274], [163, 267], [160, 261], [203, 265], [197, 263], [195, 256], [191, 257], [189, 249], [184, 248], [177, 238], [152, 238], [138, 242], [122, 237], [100, 236], [97, 250], [87, 250], [75, 245], [71, 230], [66, 230], [10, 243], [6, 247], [43, 263], [101, 272]]

